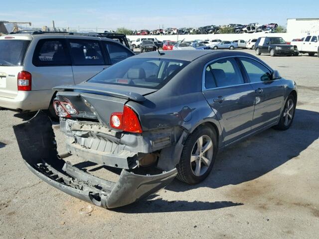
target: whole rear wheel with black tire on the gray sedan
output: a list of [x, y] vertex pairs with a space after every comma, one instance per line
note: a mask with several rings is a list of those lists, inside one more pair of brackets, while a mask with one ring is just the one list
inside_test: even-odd
[[211, 171], [217, 154], [216, 133], [199, 126], [188, 135], [177, 164], [177, 179], [188, 184], [203, 181]]

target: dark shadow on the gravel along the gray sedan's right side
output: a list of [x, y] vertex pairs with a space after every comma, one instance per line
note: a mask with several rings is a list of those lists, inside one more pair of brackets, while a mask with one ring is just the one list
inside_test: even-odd
[[212, 172], [197, 185], [174, 180], [166, 190], [183, 192], [199, 187], [220, 188], [256, 179], [285, 164], [319, 138], [319, 113], [296, 109], [294, 122], [285, 131], [273, 128], [218, 153]]

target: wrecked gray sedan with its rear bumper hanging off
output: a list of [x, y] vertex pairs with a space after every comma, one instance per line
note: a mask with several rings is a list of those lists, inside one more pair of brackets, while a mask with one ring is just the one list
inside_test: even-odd
[[[22, 157], [42, 180], [105, 208], [133, 203], [175, 176], [203, 181], [219, 150], [270, 127], [288, 129], [297, 104], [294, 81], [232, 51], [140, 54], [55, 90], [66, 152], [56, 156], [51, 121], [39, 112], [14, 126]], [[64, 161], [72, 154], [120, 168], [119, 180]]]

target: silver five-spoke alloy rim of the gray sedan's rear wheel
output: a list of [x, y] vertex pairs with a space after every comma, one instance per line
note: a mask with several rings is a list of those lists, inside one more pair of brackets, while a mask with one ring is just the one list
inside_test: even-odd
[[213, 141], [208, 135], [202, 135], [197, 139], [190, 155], [190, 167], [195, 176], [201, 176], [208, 170], [213, 150]]

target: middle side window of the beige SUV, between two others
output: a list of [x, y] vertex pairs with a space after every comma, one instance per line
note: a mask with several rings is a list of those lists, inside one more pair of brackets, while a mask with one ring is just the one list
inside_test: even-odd
[[69, 44], [74, 66], [105, 65], [99, 41], [69, 39]]

